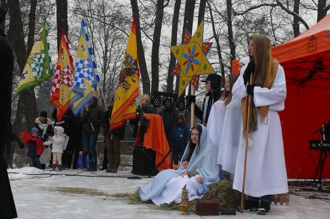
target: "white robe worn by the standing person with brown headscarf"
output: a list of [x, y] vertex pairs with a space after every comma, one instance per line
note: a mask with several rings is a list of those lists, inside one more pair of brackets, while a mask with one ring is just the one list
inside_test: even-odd
[[[239, 99], [247, 96], [243, 73], [233, 86], [233, 95]], [[270, 106], [267, 124], [260, 123], [257, 112], [258, 129], [252, 133], [253, 147], [248, 149], [245, 194], [253, 197], [288, 192], [284, 159], [281, 121], [278, 111], [284, 110], [286, 98], [285, 75], [279, 66], [271, 89], [254, 87], [253, 101], [256, 107]], [[242, 192], [245, 146], [239, 148], [233, 188]]]

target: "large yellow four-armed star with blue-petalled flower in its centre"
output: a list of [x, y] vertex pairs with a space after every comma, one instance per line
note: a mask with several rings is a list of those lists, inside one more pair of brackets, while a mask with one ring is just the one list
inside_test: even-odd
[[180, 66], [179, 97], [194, 76], [215, 73], [203, 52], [203, 32], [204, 21], [187, 43], [170, 47]]

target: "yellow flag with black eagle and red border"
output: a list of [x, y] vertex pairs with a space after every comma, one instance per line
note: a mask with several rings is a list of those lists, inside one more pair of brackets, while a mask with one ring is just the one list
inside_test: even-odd
[[139, 96], [139, 77], [138, 46], [133, 15], [133, 24], [130, 28], [118, 87], [114, 95], [110, 130], [123, 126], [125, 120], [135, 118], [136, 98]]

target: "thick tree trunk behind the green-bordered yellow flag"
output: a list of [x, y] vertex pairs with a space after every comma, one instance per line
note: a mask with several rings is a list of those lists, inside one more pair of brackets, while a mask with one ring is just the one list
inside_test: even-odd
[[[23, 72], [27, 55], [24, 44], [23, 24], [22, 24], [22, 17], [19, 8], [19, 1], [18, 0], [9, 1], [9, 10], [11, 16], [10, 16], [8, 38], [10, 39], [10, 42], [13, 45], [20, 72]], [[33, 14], [33, 12], [32, 13], [30, 12], [30, 14]], [[13, 125], [16, 130], [20, 129], [19, 127], [22, 124], [23, 113], [26, 119], [25, 130], [29, 130], [34, 124], [36, 117], [38, 116], [37, 101], [36, 101], [36, 95], [34, 89], [30, 89], [19, 95], [16, 118]]]

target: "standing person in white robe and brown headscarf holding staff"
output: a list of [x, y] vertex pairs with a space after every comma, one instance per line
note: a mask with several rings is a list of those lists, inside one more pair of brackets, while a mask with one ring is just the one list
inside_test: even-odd
[[[250, 211], [257, 208], [258, 214], [269, 214], [272, 194], [288, 192], [282, 128], [278, 114], [278, 111], [284, 110], [286, 82], [283, 67], [271, 57], [269, 38], [253, 35], [248, 50], [251, 62], [242, 68], [233, 87], [235, 97], [243, 99], [249, 93], [253, 98], [252, 106], [256, 107], [251, 107], [251, 112], [256, 113], [256, 116], [251, 116], [250, 122], [252, 122], [249, 124], [249, 138], [252, 140], [252, 145], [250, 147], [249, 144], [247, 150], [244, 192], [248, 195], [248, 200], [243, 210]], [[251, 72], [253, 72], [252, 84], [249, 83]], [[243, 101], [242, 115], [243, 120], [246, 121], [247, 99]], [[243, 130], [246, 129], [243, 127]], [[244, 157], [245, 146], [239, 148], [233, 184], [233, 188], [240, 192], [242, 192]]]

